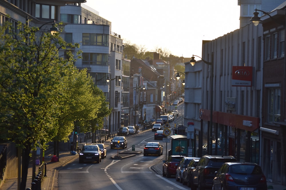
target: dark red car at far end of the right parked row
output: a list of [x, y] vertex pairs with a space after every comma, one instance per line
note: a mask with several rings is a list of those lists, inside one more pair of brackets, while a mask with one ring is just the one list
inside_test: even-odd
[[163, 160], [163, 176], [167, 176], [168, 178], [171, 175], [176, 175], [176, 170], [181, 162], [182, 158], [185, 156], [169, 156], [167, 160]]

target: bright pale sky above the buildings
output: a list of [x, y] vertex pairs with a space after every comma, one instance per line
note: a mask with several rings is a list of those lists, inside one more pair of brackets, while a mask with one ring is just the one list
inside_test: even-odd
[[123, 40], [147, 51], [162, 48], [184, 58], [202, 57], [202, 40], [214, 40], [239, 28], [237, 0], [86, 1]]

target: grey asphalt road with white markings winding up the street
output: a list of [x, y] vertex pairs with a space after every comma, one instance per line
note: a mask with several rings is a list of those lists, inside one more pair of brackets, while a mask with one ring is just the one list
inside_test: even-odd
[[[174, 127], [174, 121], [170, 123], [170, 126]], [[132, 145], [135, 145], [135, 150], [143, 151], [147, 142], [154, 141], [154, 132], [146, 130], [139, 134], [130, 134], [126, 138], [128, 150], [132, 150]], [[166, 148], [166, 143], [162, 140], [156, 141]], [[62, 167], [59, 170], [58, 189], [189, 189], [177, 182], [175, 177], [162, 176], [162, 161], [166, 158], [165, 149], [163, 149], [162, 156], [143, 156], [142, 153], [122, 160], [113, 160], [111, 155], [117, 154], [117, 151], [108, 146], [107, 157], [100, 163], [79, 164], [78, 160], [75, 160]]]

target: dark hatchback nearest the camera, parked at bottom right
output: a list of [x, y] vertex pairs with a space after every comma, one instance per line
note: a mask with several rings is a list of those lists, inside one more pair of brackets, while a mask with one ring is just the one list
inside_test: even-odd
[[258, 164], [227, 162], [215, 172], [212, 190], [259, 189], [267, 190], [266, 177]]

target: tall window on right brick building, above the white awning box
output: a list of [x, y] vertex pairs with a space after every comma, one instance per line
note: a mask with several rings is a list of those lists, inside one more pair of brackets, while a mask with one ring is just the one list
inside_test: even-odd
[[281, 89], [268, 89], [268, 122], [279, 121]]

